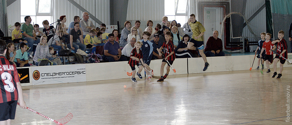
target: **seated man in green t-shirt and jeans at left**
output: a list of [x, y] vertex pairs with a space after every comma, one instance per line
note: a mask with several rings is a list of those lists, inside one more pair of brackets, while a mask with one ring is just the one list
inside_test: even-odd
[[[30, 18], [30, 16], [25, 16], [24, 21], [25, 23], [23, 23], [20, 27], [20, 29], [23, 31], [22, 38], [27, 41], [28, 47], [32, 48], [34, 44], [39, 43], [40, 38], [36, 37], [36, 34], [34, 32], [34, 27], [32, 26], [32, 24], [30, 24], [32, 22], [32, 19]], [[31, 49], [30, 52], [32, 51], [33, 49]]]

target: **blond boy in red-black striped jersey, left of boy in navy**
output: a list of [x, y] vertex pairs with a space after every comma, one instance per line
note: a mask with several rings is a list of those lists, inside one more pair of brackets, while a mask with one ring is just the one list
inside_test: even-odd
[[[140, 73], [142, 71], [142, 65], [144, 66], [144, 62], [143, 62], [142, 50], [140, 50], [140, 48], [142, 47], [143, 43], [141, 43], [140, 41], [137, 41], [134, 45], [135, 45], [135, 48], [131, 52], [130, 60], [128, 61], [128, 64], [132, 68], [132, 79], [131, 80], [133, 82], [137, 82], [137, 80], [135, 78], [135, 73], [136, 73], [135, 65], [137, 65], [139, 68], [137, 75], [140, 79], [142, 79], [142, 75]], [[139, 63], [138, 60], [140, 60], [142, 65]], [[148, 77], [145, 80], [151, 80], [151, 75], [148, 72], [146, 72], [146, 74], [148, 75]]]

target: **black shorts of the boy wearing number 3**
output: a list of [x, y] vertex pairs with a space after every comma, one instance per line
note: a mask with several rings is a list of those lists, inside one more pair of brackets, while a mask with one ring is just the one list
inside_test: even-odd
[[0, 121], [14, 119], [17, 101], [0, 103]]

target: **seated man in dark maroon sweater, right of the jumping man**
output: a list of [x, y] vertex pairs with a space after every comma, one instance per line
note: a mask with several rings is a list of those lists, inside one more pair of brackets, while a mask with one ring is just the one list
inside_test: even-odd
[[213, 36], [208, 38], [204, 53], [206, 57], [225, 56], [225, 53], [222, 50], [222, 40], [218, 38], [218, 31], [215, 30]]

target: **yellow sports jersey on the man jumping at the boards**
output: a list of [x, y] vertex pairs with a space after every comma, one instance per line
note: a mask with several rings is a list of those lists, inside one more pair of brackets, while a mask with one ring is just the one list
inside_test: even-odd
[[191, 26], [192, 32], [193, 32], [192, 38], [196, 41], [204, 41], [203, 36], [201, 36], [198, 39], [195, 39], [195, 36], [199, 36], [202, 32], [206, 31], [204, 26], [200, 22], [198, 22], [197, 20], [194, 23], [190, 22], [190, 26]]

